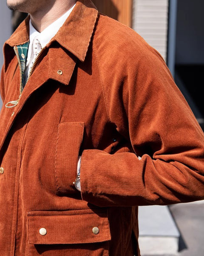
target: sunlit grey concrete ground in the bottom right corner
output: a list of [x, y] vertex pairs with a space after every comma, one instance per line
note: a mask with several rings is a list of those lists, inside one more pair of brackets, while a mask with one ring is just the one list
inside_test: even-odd
[[174, 204], [169, 209], [181, 233], [179, 252], [154, 256], [204, 256], [204, 201]]

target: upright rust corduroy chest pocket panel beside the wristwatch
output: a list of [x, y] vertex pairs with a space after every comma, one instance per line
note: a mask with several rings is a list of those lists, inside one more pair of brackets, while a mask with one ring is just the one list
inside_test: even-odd
[[84, 133], [83, 122], [60, 123], [57, 133], [55, 175], [59, 194], [76, 193], [79, 149]]

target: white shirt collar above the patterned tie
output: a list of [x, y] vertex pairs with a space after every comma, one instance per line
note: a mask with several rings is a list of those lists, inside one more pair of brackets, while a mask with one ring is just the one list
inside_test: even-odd
[[[76, 3], [74, 4], [74, 6], [75, 5]], [[72, 10], [74, 9], [74, 6], [72, 6], [71, 9], [65, 12], [65, 14], [63, 14], [61, 17], [59, 17], [57, 20], [51, 23], [48, 27], [46, 27], [41, 33], [34, 28], [30, 20], [30, 23], [29, 23], [29, 27], [30, 27], [29, 39], [30, 40], [29, 40], [27, 61], [29, 61], [31, 58], [32, 44], [33, 44], [34, 38], [37, 36], [37, 39], [40, 41], [42, 48], [44, 48], [45, 45], [49, 43], [49, 41], [57, 34], [58, 30], [65, 23], [65, 20], [71, 14]]]

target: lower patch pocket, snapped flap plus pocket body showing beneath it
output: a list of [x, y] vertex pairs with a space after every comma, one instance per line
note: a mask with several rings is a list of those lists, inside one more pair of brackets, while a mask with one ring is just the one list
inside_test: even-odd
[[107, 209], [28, 212], [28, 256], [108, 256]]

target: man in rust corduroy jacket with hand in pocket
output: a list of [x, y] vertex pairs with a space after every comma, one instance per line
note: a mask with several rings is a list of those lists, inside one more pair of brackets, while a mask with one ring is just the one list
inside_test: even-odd
[[139, 256], [137, 206], [204, 199], [195, 116], [159, 53], [90, 0], [7, 4], [30, 16], [3, 49], [1, 255]]

